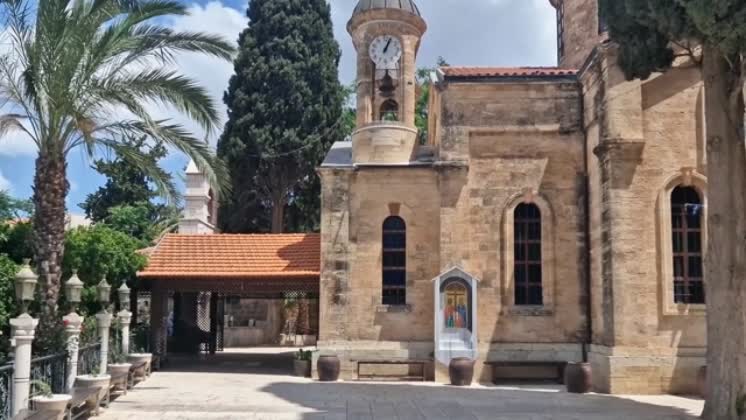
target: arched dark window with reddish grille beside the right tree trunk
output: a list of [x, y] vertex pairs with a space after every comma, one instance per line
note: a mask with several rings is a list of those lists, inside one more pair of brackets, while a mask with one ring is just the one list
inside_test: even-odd
[[675, 303], [705, 303], [702, 263], [702, 215], [699, 192], [676, 187], [671, 192], [671, 234]]

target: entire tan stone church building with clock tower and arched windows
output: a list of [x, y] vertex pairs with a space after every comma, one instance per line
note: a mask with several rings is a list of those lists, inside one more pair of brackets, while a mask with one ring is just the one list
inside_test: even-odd
[[425, 376], [447, 381], [469, 355], [490, 382], [542, 372], [489, 362], [586, 359], [599, 392], [694, 391], [699, 74], [626, 81], [596, 2], [551, 3], [560, 66], [438, 69], [427, 138], [413, 112], [425, 20], [411, 1], [356, 8], [358, 127], [319, 168], [319, 348], [343, 377], [432, 359]]

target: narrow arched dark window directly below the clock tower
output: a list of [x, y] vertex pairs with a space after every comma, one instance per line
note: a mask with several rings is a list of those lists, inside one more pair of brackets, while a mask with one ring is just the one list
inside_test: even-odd
[[383, 304], [407, 303], [407, 225], [390, 216], [383, 222]]

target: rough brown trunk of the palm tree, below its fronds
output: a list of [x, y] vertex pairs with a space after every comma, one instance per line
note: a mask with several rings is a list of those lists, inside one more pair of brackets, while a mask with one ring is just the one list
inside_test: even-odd
[[34, 175], [34, 257], [41, 283], [42, 323], [57, 311], [65, 245], [67, 164], [61, 150], [43, 150]]

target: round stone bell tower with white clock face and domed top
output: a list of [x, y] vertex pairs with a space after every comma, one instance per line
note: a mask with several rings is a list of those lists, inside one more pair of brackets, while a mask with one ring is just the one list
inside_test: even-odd
[[415, 61], [427, 24], [414, 0], [360, 0], [347, 30], [357, 51], [353, 162], [409, 163], [417, 149]]

